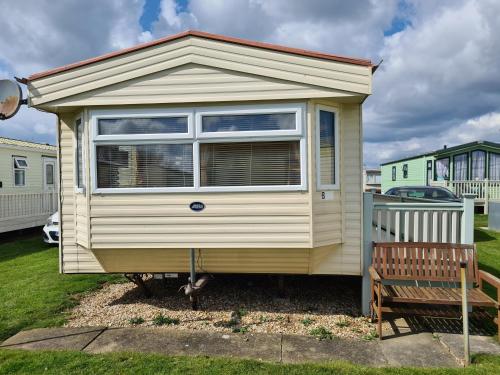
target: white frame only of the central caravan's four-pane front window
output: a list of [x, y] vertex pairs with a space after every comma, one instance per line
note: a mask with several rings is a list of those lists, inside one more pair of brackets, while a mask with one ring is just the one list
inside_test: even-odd
[[[296, 114], [296, 129], [270, 131], [239, 131], [202, 133], [203, 115], [215, 114], [259, 114], [290, 113]], [[188, 133], [169, 134], [133, 134], [133, 135], [98, 135], [97, 124], [101, 118], [123, 117], [178, 117], [188, 116]], [[177, 109], [106, 109], [90, 111], [90, 147], [91, 185], [93, 194], [107, 193], [179, 193], [179, 192], [242, 192], [242, 191], [305, 191], [307, 190], [307, 140], [305, 126], [305, 104], [286, 103], [268, 105], [248, 105], [224, 107], [188, 107]], [[300, 142], [300, 185], [268, 186], [200, 186], [200, 144], [230, 142], [265, 142], [265, 141]], [[134, 188], [98, 188], [97, 187], [97, 146], [99, 145], [143, 145], [143, 144], [192, 144], [193, 145], [193, 186], [191, 187], [134, 187]]]

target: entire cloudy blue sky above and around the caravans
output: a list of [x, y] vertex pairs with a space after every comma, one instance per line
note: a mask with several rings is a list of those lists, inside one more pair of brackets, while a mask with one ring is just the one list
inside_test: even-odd
[[[478, 139], [500, 142], [500, 1], [3, 0], [0, 78], [28, 76], [186, 29], [383, 64], [364, 104], [368, 166]], [[14, 41], [14, 42], [13, 42]], [[55, 142], [22, 108], [0, 136]]]

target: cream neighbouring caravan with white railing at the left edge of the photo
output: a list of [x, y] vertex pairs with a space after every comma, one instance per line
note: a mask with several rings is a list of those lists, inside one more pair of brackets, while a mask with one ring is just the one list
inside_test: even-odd
[[0, 137], [0, 233], [45, 224], [57, 190], [55, 146]]

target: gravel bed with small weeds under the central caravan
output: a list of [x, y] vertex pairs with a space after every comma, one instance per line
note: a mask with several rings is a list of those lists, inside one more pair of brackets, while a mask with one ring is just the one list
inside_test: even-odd
[[[185, 282], [182, 277], [149, 280], [150, 298], [132, 283], [107, 284], [82, 298], [67, 326], [168, 326], [373, 338], [373, 325], [359, 314], [356, 278], [287, 276], [284, 297], [279, 297], [276, 276], [217, 275], [203, 290], [198, 311], [191, 309], [189, 298], [179, 291]], [[160, 322], [158, 316], [163, 317]]]

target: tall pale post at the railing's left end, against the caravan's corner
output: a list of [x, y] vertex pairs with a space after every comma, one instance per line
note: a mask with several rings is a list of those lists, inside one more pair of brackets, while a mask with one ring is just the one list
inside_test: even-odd
[[361, 312], [370, 314], [370, 276], [368, 267], [372, 263], [373, 194], [363, 193], [363, 280], [361, 287]]

